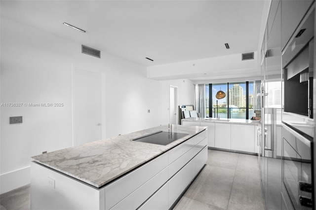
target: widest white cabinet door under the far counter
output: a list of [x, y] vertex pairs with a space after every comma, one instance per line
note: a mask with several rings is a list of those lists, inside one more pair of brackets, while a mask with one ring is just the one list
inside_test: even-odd
[[232, 124], [231, 149], [255, 152], [255, 127], [253, 125]]

